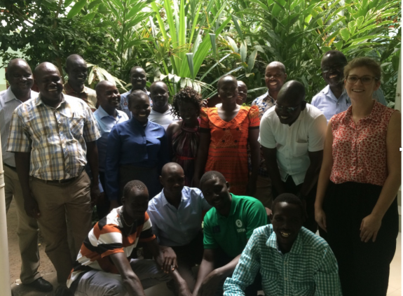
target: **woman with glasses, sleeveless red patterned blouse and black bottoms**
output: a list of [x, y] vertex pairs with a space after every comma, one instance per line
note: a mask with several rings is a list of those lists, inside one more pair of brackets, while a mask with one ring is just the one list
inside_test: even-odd
[[373, 59], [353, 59], [344, 76], [351, 106], [327, 126], [315, 220], [339, 263], [343, 295], [383, 296], [399, 231], [401, 114], [372, 99], [381, 85]]

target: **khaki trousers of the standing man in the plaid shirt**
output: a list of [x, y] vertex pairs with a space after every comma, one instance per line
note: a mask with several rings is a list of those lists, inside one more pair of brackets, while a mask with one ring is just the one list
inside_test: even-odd
[[73, 268], [67, 223], [74, 241], [74, 253], [78, 254], [91, 229], [90, 178], [85, 171], [69, 183], [44, 183], [32, 178], [31, 190], [41, 212], [38, 223], [46, 244], [45, 252], [55, 266], [57, 283], [66, 286]]

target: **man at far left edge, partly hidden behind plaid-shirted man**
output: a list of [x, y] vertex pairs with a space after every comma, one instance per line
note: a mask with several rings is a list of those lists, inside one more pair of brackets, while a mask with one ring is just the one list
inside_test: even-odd
[[53, 286], [41, 278], [38, 272], [38, 223], [36, 219], [27, 216], [24, 209], [24, 197], [17, 170], [15, 169], [14, 153], [7, 151], [7, 138], [10, 132], [11, 117], [15, 108], [29, 99], [38, 97], [31, 90], [34, 84], [31, 68], [23, 59], [12, 59], [7, 66], [6, 79], [10, 83], [8, 90], [0, 92], [0, 132], [1, 150], [3, 153], [4, 181], [6, 194], [6, 212], [11, 200], [15, 199], [18, 211], [18, 243], [21, 253], [22, 284], [41, 292], [50, 292]]

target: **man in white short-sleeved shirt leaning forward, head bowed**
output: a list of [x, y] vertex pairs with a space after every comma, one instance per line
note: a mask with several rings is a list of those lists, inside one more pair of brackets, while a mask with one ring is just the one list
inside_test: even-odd
[[305, 88], [289, 81], [278, 93], [275, 108], [260, 123], [261, 143], [273, 196], [298, 195], [306, 203], [308, 218], [303, 226], [316, 232], [313, 204], [322, 164], [327, 121], [316, 107], [307, 104]]

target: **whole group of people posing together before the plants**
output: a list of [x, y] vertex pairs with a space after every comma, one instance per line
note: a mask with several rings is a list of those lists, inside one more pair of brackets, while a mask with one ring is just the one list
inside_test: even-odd
[[233, 76], [218, 97], [184, 87], [170, 105], [139, 66], [120, 94], [107, 80], [86, 87], [78, 55], [64, 85], [53, 64], [32, 73], [11, 60], [0, 128], [22, 284], [53, 290], [38, 272], [40, 229], [57, 296], [144, 296], [163, 282], [180, 296], [386, 295], [400, 113], [373, 59], [330, 50], [321, 69], [311, 104], [271, 62], [252, 106]]

